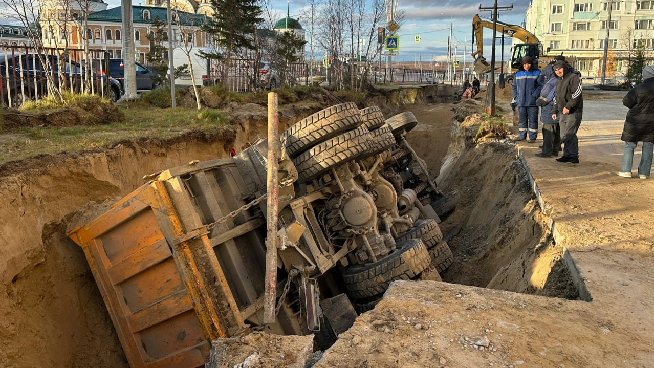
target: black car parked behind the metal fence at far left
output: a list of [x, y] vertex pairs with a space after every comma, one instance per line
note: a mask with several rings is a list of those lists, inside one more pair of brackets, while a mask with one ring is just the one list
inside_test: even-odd
[[[45, 65], [41, 61], [46, 61]], [[2, 103], [11, 107], [20, 107], [24, 101], [43, 97], [48, 93], [48, 78], [46, 73], [52, 73], [54, 83], [65, 84], [67, 90], [82, 93], [85, 86], [86, 69], [70, 59], [63, 61], [63, 75], [60, 75], [59, 59], [56, 55], [26, 54], [13, 52], [0, 54], [0, 97]], [[94, 71], [92, 73], [92, 90], [105, 95], [111, 101], [120, 99], [120, 83], [114, 78]], [[11, 103], [9, 100], [11, 99]]]

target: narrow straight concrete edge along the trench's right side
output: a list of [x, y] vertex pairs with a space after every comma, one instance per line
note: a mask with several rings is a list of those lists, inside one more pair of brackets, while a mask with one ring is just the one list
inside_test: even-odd
[[583, 280], [583, 277], [579, 273], [579, 269], [577, 268], [577, 265], [574, 261], [574, 258], [572, 257], [572, 254], [568, 252], [568, 249], [565, 247], [565, 239], [564, 236], [562, 236], [559, 233], [559, 230], [557, 229], [557, 224], [552, 218], [552, 205], [543, 199], [543, 195], [541, 194], [540, 190], [538, 189], [538, 184], [536, 184], [536, 179], [532, 175], [531, 171], [529, 170], [529, 165], [527, 164], [525, 155], [523, 154], [523, 148], [517, 147], [518, 150], [518, 157], [520, 158], [521, 163], [523, 164], [523, 167], [525, 168], [525, 171], [527, 173], [527, 177], [529, 178], [529, 184], [532, 188], [532, 192], [536, 196], [536, 199], [538, 200], [538, 205], [540, 206], [540, 210], [543, 212], [545, 217], [547, 218], [547, 226], [549, 226], [549, 230], [552, 233], [552, 237], [557, 244], [561, 244], [563, 246], [563, 260], [566, 264], [566, 268], [568, 269], [568, 273], [570, 273], [570, 277], [572, 278], [572, 284], [577, 288], [577, 293], [579, 293], [579, 299], [583, 301], [593, 301], [593, 296], [591, 295], [591, 292], [589, 292], [588, 288], [586, 287], [586, 284]]

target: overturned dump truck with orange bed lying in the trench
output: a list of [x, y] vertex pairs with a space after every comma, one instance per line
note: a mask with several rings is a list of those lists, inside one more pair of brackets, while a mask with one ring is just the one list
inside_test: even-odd
[[[453, 261], [442, 199], [404, 135], [411, 112], [343, 103], [292, 125], [279, 160], [275, 323], [264, 324], [266, 139], [153, 176], [69, 232], [131, 367], [202, 367], [249, 331], [336, 339], [392, 280]], [[438, 276], [438, 274], [436, 274]]]

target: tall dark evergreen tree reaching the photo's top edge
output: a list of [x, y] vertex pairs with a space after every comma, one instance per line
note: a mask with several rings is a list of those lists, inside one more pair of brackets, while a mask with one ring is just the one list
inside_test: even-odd
[[203, 56], [218, 59], [221, 63], [221, 78], [226, 79], [227, 68], [233, 54], [254, 50], [256, 25], [264, 21], [263, 10], [257, 0], [211, 0], [213, 18], [203, 25], [218, 48], [224, 51], [202, 52]]

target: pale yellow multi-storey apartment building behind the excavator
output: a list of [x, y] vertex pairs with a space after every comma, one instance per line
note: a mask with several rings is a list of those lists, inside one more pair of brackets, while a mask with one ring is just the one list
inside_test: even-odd
[[654, 0], [532, 0], [525, 28], [549, 49], [547, 55], [576, 56], [582, 76], [600, 76], [607, 32], [615, 69], [608, 75], [616, 80], [627, 69], [628, 50], [638, 42], [647, 58], [654, 58]]

